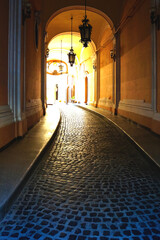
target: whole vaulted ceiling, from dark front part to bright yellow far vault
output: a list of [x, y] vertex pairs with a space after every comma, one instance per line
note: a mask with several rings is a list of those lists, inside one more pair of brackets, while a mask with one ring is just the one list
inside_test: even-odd
[[[43, 0], [42, 0], [43, 1]], [[122, 9], [126, 0], [87, 0], [87, 17], [92, 25], [91, 39], [95, 50], [102, 47], [102, 37], [113, 38], [114, 30], [119, 24]], [[73, 44], [77, 57], [80, 59], [82, 44], [80, 43], [79, 25], [84, 18], [84, 1], [76, 0], [45, 0], [43, 2], [43, 17], [46, 43], [49, 49], [60, 49], [60, 41], [63, 41], [63, 49], [70, 49], [71, 17], [73, 17]], [[90, 46], [91, 46], [90, 45]]]

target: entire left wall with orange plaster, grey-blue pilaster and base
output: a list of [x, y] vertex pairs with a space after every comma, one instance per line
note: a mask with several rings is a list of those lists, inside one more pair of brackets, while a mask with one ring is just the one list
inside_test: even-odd
[[0, 30], [3, 38], [0, 38], [0, 148], [23, 136], [42, 116], [42, 22], [39, 24], [38, 50], [35, 47], [35, 11], [41, 10], [41, 1], [30, 2], [31, 18], [26, 19], [23, 25], [20, 2], [15, 1], [13, 4], [9, 0], [1, 1]]

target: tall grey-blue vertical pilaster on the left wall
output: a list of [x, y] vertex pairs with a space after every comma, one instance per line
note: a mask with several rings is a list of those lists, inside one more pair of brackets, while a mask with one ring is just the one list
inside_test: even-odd
[[22, 1], [9, 0], [8, 36], [8, 105], [14, 121], [22, 120], [21, 112], [21, 22]]

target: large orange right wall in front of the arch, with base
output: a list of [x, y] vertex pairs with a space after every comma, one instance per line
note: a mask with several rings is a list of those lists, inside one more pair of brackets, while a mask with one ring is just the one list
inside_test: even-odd
[[[160, 115], [152, 91], [151, 1], [127, 1], [120, 31], [120, 95], [118, 113], [160, 134]], [[139, 5], [138, 5], [139, 4]], [[128, 18], [128, 16], [130, 16]], [[157, 110], [160, 112], [160, 34], [157, 32]]]

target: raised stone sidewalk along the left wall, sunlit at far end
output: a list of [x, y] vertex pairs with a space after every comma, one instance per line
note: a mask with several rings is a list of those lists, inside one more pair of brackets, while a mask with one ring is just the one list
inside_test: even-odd
[[0, 219], [54, 137], [59, 121], [58, 108], [48, 109], [46, 116], [24, 138], [15, 140], [0, 152]]

